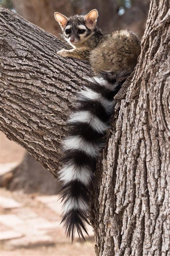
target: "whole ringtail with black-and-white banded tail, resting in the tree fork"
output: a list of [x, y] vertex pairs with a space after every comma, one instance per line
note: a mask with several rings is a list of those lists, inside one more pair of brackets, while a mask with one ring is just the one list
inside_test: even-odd
[[[97, 10], [67, 18], [56, 12], [63, 36], [74, 49], [57, 52], [62, 57], [88, 59], [96, 76], [77, 95], [77, 109], [71, 114], [69, 133], [63, 142], [65, 157], [60, 170], [63, 182], [63, 223], [74, 239], [77, 229], [87, 233], [90, 185], [96, 160], [104, 147], [104, 135], [113, 113], [114, 96], [137, 63], [140, 40], [129, 30], [102, 33], [96, 27]], [[124, 80], [119, 78], [125, 77]], [[121, 80], [121, 82], [118, 82]]]

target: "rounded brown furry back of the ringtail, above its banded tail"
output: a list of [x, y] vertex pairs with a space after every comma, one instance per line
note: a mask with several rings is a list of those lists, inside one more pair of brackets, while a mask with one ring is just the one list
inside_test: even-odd
[[94, 73], [98, 71], [132, 72], [140, 54], [140, 40], [131, 31], [118, 30], [104, 35], [103, 40], [90, 53], [90, 64]]

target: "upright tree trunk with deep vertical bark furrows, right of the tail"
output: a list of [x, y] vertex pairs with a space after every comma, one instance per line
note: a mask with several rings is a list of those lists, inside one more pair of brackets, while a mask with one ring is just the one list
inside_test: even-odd
[[98, 165], [91, 220], [100, 256], [167, 255], [168, 9], [151, 1], [136, 71]]

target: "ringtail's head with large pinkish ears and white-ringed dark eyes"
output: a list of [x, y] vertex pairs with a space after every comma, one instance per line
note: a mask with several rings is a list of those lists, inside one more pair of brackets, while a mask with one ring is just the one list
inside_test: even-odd
[[70, 18], [58, 12], [55, 12], [54, 15], [61, 26], [65, 39], [75, 48], [94, 34], [98, 18], [98, 11], [95, 9], [87, 15], [75, 15]]

